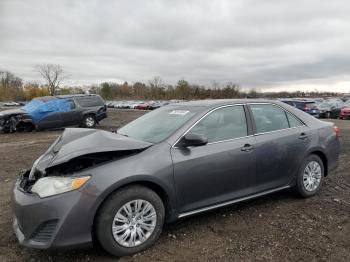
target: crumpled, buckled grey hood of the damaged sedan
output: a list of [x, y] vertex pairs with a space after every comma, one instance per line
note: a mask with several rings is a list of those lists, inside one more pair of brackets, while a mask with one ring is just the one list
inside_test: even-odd
[[[139, 150], [152, 144], [128, 138], [116, 133], [85, 128], [66, 128], [56, 144], [48, 152], [54, 157], [47, 167], [56, 166], [78, 156], [99, 153]], [[44, 157], [45, 158], [45, 157]]]

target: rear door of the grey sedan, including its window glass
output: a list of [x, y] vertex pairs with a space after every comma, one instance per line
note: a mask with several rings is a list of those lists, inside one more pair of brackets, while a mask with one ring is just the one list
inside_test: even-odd
[[296, 116], [274, 104], [250, 104], [256, 138], [256, 188], [288, 185], [310, 144], [310, 130]]

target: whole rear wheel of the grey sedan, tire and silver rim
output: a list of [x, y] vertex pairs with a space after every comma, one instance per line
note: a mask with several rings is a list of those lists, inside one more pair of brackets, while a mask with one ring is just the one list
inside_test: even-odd
[[[307, 170], [310, 172], [307, 172]], [[309, 155], [300, 167], [295, 189], [302, 197], [314, 196], [320, 190], [323, 178], [324, 166], [322, 160], [317, 155]]]

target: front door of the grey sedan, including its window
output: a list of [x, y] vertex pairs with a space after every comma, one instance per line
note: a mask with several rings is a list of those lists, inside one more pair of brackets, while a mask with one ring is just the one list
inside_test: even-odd
[[243, 105], [215, 109], [188, 133], [202, 134], [204, 146], [171, 149], [180, 212], [249, 195], [255, 185], [255, 139]]

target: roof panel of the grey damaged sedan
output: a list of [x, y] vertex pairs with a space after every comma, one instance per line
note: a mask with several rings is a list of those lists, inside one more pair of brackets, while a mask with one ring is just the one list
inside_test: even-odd
[[206, 100], [195, 100], [188, 102], [179, 102], [172, 105], [180, 106], [201, 106], [201, 107], [213, 107], [227, 104], [245, 104], [245, 103], [278, 103], [278, 100], [269, 99], [206, 99]]

